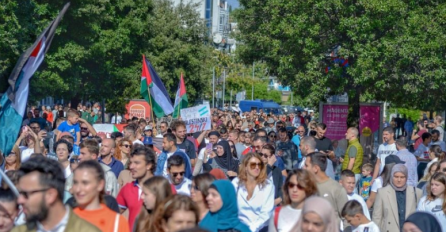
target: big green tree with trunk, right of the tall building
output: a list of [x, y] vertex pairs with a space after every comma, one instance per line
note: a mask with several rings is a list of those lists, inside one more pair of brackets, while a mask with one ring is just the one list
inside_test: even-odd
[[[246, 63], [263, 60], [285, 85], [316, 106], [349, 95], [349, 125], [360, 100], [441, 108], [446, 85], [446, 3], [402, 0], [240, 0], [234, 12]], [[327, 53], [340, 46], [334, 64]], [[325, 69], [330, 71], [325, 73]], [[444, 108], [444, 107], [443, 107]]]

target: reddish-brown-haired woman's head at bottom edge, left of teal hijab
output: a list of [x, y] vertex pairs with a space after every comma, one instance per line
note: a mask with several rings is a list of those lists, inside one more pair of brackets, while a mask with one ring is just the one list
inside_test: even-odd
[[173, 195], [157, 207], [150, 232], [178, 232], [197, 226], [197, 205], [186, 195]]

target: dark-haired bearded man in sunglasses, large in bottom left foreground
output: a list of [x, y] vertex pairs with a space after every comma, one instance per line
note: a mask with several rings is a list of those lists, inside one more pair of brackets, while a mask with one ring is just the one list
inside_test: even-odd
[[23, 207], [26, 224], [12, 231], [99, 232], [64, 205], [64, 186], [63, 170], [57, 161], [35, 157], [23, 163], [19, 169], [17, 202]]

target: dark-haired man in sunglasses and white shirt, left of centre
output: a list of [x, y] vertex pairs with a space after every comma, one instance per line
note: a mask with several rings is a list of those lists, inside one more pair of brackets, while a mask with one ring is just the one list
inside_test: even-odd
[[169, 181], [175, 186], [178, 194], [190, 196], [192, 181], [186, 178], [186, 165], [183, 157], [176, 152], [167, 159], [167, 173]]

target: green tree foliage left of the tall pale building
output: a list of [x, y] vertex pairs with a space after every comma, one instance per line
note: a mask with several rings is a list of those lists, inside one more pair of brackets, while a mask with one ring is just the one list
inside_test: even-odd
[[[63, 4], [55, 0], [2, 3], [1, 83]], [[45, 62], [31, 79], [30, 100], [46, 96], [75, 102], [105, 98], [107, 109], [122, 112], [128, 99], [141, 98], [145, 54], [172, 98], [182, 72], [193, 101], [202, 95], [202, 83], [212, 77], [206, 31], [193, 4], [174, 6], [169, 0], [74, 1]]]

